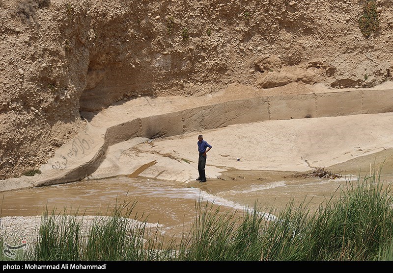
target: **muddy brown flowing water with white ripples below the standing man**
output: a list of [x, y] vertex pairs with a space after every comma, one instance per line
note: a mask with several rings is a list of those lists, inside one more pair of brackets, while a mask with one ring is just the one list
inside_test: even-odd
[[[220, 210], [252, 209], [271, 212], [290, 200], [317, 207], [330, 199], [352, 176], [337, 179], [295, 178], [282, 172], [239, 171], [223, 176], [183, 183], [145, 177], [117, 176], [99, 180], [23, 189], [2, 193], [1, 216], [35, 216], [48, 210], [56, 214], [110, 215], [116, 203], [135, 203], [132, 215], [142, 215], [148, 223], [159, 223], [172, 235], [188, 231], [196, 216], [198, 200]], [[225, 179], [225, 180], [224, 180]]]

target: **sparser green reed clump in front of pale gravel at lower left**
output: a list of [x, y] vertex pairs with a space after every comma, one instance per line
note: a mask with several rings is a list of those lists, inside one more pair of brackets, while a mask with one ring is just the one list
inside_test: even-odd
[[78, 212], [71, 216], [65, 210], [58, 215], [56, 209], [51, 214], [46, 211], [34, 253], [27, 255], [32, 260], [52, 261], [165, 259], [168, 251], [156, 251], [163, 249], [159, 228], [146, 228], [147, 219], [140, 221], [143, 214], [132, 219], [136, 204], [116, 200], [110, 216], [98, 215], [90, 223], [78, 217]]

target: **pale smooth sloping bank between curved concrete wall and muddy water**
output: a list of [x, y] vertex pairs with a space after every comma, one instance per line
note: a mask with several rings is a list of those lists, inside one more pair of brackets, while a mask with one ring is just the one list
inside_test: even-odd
[[[393, 113], [264, 121], [113, 145], [88, 179], [145, 176], [189, 183], [197, 178], [197, 135], [213, 146], [206, 175], [233, 170], [306, 172], [313, 168], [357, 174], [370, 164], [392, 170]], [[237, 160], [239, 158], [239, 160]], [[221, 177], [222, 178], [222, 177]]]

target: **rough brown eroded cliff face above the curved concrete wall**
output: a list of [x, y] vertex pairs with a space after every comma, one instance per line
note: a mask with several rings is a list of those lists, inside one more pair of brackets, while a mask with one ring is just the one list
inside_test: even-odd
[[239, 83], [392, 79], [393, 2], [365, 38], [359, 0], [0, 0], [0, 178], [38, 169], [81, 112]]

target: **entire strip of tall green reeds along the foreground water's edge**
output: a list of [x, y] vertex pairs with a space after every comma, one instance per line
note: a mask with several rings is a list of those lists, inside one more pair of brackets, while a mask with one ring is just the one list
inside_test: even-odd
[[[274, 208], [222, 211], [196, 201], [195, 221], [180, 239], [147, 226], [134, 203], [116, 204], [109, 217], [90, 227], [80, 218], [45, 214], [31, 251], [32, 260], [393, 260], [390, 186], [378, 172], [346, 181], [311, 212], [306, 198]], [[268, 217], [272, 214], [275, 218]], [[86, 230], [86, 231], [84, 231]], [[20, 259], [20, 257], [18, 257]]]

